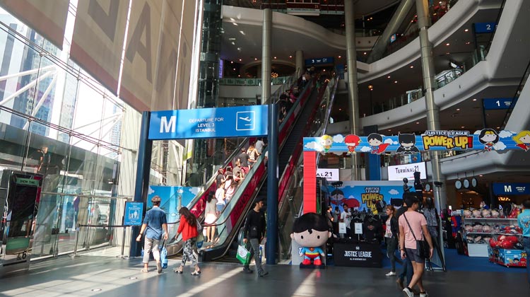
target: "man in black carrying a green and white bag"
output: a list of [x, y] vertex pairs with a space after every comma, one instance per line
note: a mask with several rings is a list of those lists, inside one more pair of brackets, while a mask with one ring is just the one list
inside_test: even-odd
[[[256, 269], [259, 276], [266, 276], [269, 272], [264, 271], [261, 267], [261, 257], [259, 256], [259, 243], [265, 237], [265, 214], [261, 211], [263, 201], [254, 202], [254, 209], [249, 211], [245, 226], [243, 227], [243, 243], [250, 241], [250, 253], [256, 261]], [[248, 239], [248, 240], [247, 240]], [[252, 260], [252, 256], [249, 259]], [[249, 263], [243, 267], [243, 272], [252, 273]]]

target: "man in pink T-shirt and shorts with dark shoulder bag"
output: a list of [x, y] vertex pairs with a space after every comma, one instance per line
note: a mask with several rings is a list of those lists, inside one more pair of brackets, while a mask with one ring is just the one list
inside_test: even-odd
[[418, 284], [420, 289], [420, 297], [428, 297], [428, 293], [423, 287], [422, 275], [425, 269], [425, 259], [420, 257], [417, 250], [416, 241], [425, 238], [429, 244], [429, 258], [432, 257], [432, 240], [427, 229], [427, 221], [425, 216], [420, 214], [417, 210], [420, 207], [420, 200], [418, 197], [409, 197], [407, 205], [410, 205], [407, 211], [402, 214], [399, 221], [399, 250], [401, 251], [401, 259], [408, 257], [412, 262], [414, 274], [408, 286], [403, 289], [405, 296], [413, 297], [412, 288]]

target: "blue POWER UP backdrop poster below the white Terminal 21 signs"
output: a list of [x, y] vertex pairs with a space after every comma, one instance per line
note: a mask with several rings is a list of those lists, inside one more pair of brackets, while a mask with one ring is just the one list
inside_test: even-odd
[[[413, 181], [409, 182], [411, 192], [413, 192]], [[345, 181], [341, 187], [328, 186], [330, 193], [331, 207], [338, 206], [343, 211], [343, 204], [363, 211], [375, 209], [375, 203], [384, 201], [390, 204], [391, 199], [403, 198], [403, 182], [397, 181]]]

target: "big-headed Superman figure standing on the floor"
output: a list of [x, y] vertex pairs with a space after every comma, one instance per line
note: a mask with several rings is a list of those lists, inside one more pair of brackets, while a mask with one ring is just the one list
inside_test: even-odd
[[329, 237], [331, 237], [331, 232], [324, 216], [307, 213], [295, 220], [290, 238], [302, 247], [298, 251], [298, 255], [304, 257], [300, 268], [324, 268], [320, 257], [325, 257], [326, 254], [321, 247]]

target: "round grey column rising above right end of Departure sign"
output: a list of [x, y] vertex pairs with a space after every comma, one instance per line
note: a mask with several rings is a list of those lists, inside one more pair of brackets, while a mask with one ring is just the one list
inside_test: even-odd
[[261, 104], [269, 104], [271, 97], [271, 38], [272, 11], [271, 8], [265, 8], [261, 37]]

